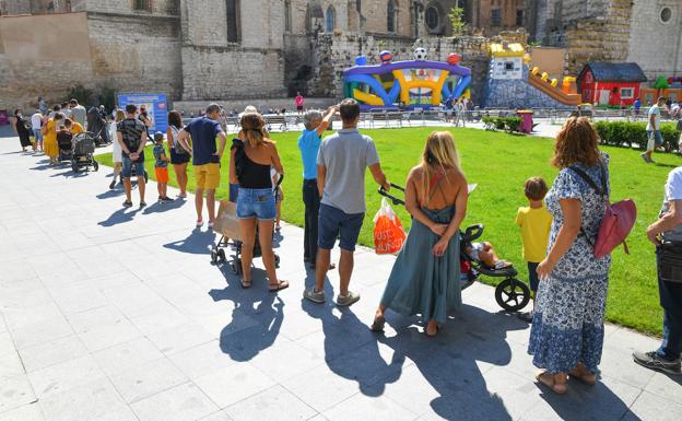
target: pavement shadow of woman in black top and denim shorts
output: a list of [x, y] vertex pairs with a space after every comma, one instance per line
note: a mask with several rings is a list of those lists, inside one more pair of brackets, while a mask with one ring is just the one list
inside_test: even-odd
[[242, 288], [230, 265], [221, 266], [221, 271], [227, 288], [211, 290], [209, 295], [216, 302], [232, 301], [234, 309], [230, 324], [221, 331], [220, 347], [234, 361], [249, 361], [274, 343], [284, 321], [284, 302], [267, 291], [263, 270], [251, 269], [254, 283], [249, 289]]

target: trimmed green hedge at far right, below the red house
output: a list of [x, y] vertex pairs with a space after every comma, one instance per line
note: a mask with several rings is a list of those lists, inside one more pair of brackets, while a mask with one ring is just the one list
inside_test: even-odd
[[[636, 144], [642, 150], [646, 149], [646, 122], [597, 121], [595, 126], [604, 144], [631, 148]], [[661, 136], [666, 151], [672, 152], [679, 149], [680, 131], [675, 124], [662, 124]]]

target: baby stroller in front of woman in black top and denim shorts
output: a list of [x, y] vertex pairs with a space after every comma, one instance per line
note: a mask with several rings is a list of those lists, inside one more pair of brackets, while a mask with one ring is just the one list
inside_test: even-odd
[[[284, 176], [280, 175], [280, 179], [278, 184], [274, 186], [274, 190], [280, 187], [282, 182], [284, 180]], [[231, 223], [223, 224], [223, 220], [230, 220]], [[219, 262], [226, 262], [227, 257], [225, 255], [225, 248], [232, 246], [235, 250], [234, 258], [230, 264], [232, 272], [234, 274], [242, 274], [242, 247], [243, 242], [239, 239], [239, 230], [234, 226], [236, 221], [236, 203], [228, 202], [225, 206], [221, 204], [221, 210], [219, 211], [217, 222], [215, 225], [215, 230], [217, 230], [221, 234], [221, 237], [217, 244], [214, 244], [211, 248], [211, 262], [217, 265]], [[232, 226], [230, 226], [232, 225]], [[274, 231], [272, 232], [274, 236]], [[232, 239], [232, 242], [231, 242]], [[256, 225], [256, 242], [254, 243], [254, 258], [262, 257], [262, 250], [260, 248], [260, 242], [258, 241], [258, 225]], [[280, 256], [274, 254], [274, 267], [280, 267]]]

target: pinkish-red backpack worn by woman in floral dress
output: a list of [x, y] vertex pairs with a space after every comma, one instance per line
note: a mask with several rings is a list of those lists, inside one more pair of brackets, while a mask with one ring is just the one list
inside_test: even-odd
[[601, 160], [599, 160], [599, 167], [601, 168], [601, 188], [597, 186], [597, 184], [586, 172], [575, 165], [569, 166], [569, 168], [579, 175], [580, 178], [583, 178], [595, 191], [597, 191], [599, 196], [607, 200], [607, 211], [601, 220], [599, 233], [597, 234], [597, 241], [592, 244], [583, 227], [580, 227], [580, 233], [595, 249], [596, 258], [601, 258], [611, 254], [611, 252], [613, 252], [613, 249], [621, 244], [625, 249], [625, 254], [630, 254], [625, 238], [635, 225], [635, 220], [637, 219], [637, 207], [631, 199], [611, 203], [608, 196], [609, 190], [607, 188], [607, 172]]

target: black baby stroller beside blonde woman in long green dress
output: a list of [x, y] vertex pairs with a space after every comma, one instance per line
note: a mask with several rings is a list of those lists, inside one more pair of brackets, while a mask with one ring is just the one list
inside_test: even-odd
[[[469, 185], [469, 194], [475, 189], [477, 185]], [[391, 183], [391, 188], [402, 191], [404, 188]], [[390, 199], [396, 206], [404, 206], [404, 200], [399, 199], [388, 191], [384, 190], [384, 187], [379, 189], [379, 195]], [[461, 269], [461, 288], [462, 290], [470, 286], [474, 281], [479, 279], [480, 274], [492, 278], [504, 278], [502, 282], [495, 288], [495, 301], [497, 304], [507, 312], [518, 312], [528, 305], [530, 301], [530, 288], [518, 279], [516, 276], [518, 271], [514, 266], [508, 266], [501, 269], [490, 268], [481, 261], [477, 261], [465, 253], [467, 246], [483, 235], [483, 225], [475, 224], [467, 227], [462, 233], [459, 232], [459, 253], [460, 253], [460, 269]]]

